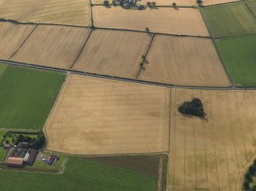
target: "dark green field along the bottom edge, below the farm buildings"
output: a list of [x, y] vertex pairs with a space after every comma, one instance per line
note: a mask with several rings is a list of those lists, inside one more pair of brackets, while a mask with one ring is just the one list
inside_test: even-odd
[[0, 170], [2, 191], [8, 190], [157, 190], [157, 177], [86, 158], [70, 157], [64, 173]]

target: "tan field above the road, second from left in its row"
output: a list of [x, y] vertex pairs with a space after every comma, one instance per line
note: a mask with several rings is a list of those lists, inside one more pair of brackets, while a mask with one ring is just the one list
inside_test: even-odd
[[39, 25], [11, 60], [70, 68], [89, 32], [87, 28]]

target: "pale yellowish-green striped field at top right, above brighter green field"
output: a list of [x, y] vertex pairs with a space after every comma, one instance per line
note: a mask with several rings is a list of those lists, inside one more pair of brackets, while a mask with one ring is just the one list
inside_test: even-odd
[[203, 8], [202, 13], [214, 37], [256, 33], [256, 18], [245, 3]]

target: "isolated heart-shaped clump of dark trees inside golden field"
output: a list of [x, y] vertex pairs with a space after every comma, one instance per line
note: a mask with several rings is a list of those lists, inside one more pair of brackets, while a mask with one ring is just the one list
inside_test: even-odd
[[184, 102], [180, 107], [178, 107], [180, 113], [188, 114], [192, 116], [205, 116], [203, 111], [203, 103], [199, 98], [193, 98], [193, 100]]

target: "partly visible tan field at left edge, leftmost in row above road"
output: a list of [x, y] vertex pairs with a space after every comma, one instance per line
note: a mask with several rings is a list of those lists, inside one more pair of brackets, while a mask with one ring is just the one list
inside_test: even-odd
[[0, 59], [9, 59], [34, 27], [35, 25], [0, 23]]

